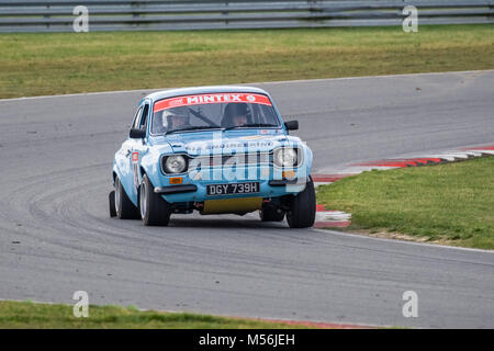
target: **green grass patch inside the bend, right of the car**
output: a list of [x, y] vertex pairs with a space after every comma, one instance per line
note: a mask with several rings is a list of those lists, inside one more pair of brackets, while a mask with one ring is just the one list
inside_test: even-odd
[[368, 171], [319, 186], [317, 201], [350, 212], [349, 231], [494, 249], [494, 157]]

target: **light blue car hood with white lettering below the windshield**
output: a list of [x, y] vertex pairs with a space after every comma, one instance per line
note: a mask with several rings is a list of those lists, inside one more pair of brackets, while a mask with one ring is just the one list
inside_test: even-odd
[[209, 131], [160, 136], [153, 144], [168, 144], [173, 152], [191, 156], [232, 152], [270, 151], [279, 146], [295, 146], [297, 137], [283, 134], [282, 129]]

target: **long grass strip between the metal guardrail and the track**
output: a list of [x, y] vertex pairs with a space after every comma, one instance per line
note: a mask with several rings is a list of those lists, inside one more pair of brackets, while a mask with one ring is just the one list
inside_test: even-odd
[[493, 25], [0, 34], [0, 98], [494, 68]]

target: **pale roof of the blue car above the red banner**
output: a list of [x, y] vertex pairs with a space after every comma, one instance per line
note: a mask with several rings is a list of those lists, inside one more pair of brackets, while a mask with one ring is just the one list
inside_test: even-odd
[[193, 94], [212, 94], [212, 93], [225, 93], [225, 92], [247, 92], [247, 93], [258, 93], [269, 97], [269, 93], [262, 89], [255, 87], [242, 87], [242, 86], [210, 86], [210, 87], [194, 87], [194, 88], [180, 88], [180, 89], [167, 89], [160, 90], [148, 94], [144, 99], [151, 99], [153, 101], [175, 98], [181, 95], [193, 95]]

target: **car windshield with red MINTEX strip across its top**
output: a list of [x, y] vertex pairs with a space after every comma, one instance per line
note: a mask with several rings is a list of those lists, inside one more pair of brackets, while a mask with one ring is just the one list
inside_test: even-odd
[[157, 101], [154, 105], [151, 134], [256, 127], [280, 127], [268, 97], [216, 93]]

